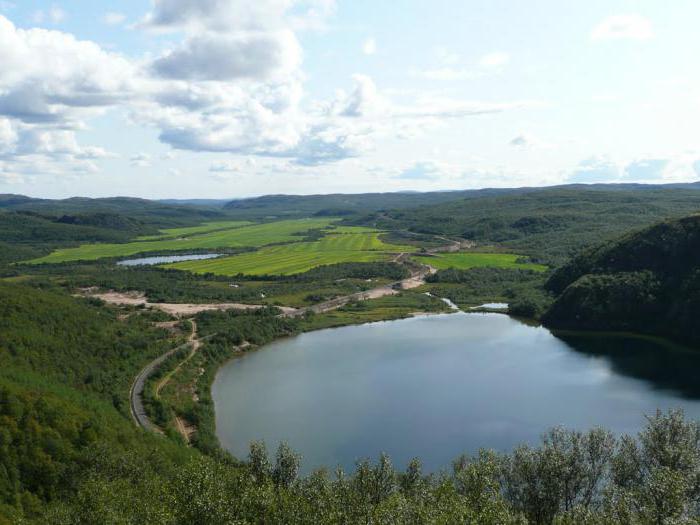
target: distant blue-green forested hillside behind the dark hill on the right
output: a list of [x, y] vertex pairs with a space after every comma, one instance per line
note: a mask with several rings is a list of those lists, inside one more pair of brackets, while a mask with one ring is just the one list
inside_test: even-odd
[[500, 243], [560, 265], [586, 246], [630, 229], [700, 210], [700, 192], [681, 189], [540, 188], [460, 199], [366, 216], [358, 223], [388, 230]]

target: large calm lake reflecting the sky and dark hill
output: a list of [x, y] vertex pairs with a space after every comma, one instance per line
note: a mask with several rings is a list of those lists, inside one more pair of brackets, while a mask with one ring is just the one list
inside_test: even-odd
[[234, 455], [286, 440], [303, 470], [388, 452], [447, 468], [555, 425], [633, 433], [644, 414], [700, 417], [700, 352], [633, 338], [558, 338], [500, 314], [417, 317], [303, 334], [225, 365], [217, 432]]

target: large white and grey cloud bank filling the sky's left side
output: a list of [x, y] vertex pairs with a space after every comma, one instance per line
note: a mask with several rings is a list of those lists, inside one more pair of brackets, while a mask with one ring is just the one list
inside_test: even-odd
[[[430, 94], [402, 96], [399, 104], [366, 75], [353, 77], [349, 93], [303, 103], [302, 53], [292, 28], [328, 16], [334, 6], [330, 0], [156, 0], [142, 26], [182, 30], [182, 42], [140, 61], [59, 31], [19, 29], [0, 16], [0, 123], [10, 123], [0, 126], [3, 160], [38, 156], [93, 171], [94, 161], [108, 154], [80, 147], [74, 131], [112, 107], [155, 128], [176, 150], [317, 166], [366, 154], [382, 138], [415, 137], [450, 119], [534, 105]], [[152, 158], [140, 154], [130, 162], [145, 167]]]

